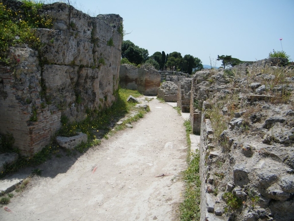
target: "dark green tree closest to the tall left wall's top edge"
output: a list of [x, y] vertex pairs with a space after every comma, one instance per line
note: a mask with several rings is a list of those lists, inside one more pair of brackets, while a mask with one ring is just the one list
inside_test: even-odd
[[148, 50], [139, 48], [130, 40], [123, 41], [122, 58], [127, 58], [131, 63], [143, 64], [148, 59]]

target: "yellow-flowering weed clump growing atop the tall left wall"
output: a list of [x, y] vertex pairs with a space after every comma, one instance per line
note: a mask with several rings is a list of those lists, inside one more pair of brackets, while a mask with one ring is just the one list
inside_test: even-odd
[[17, 56], [9, 55], [9, 47], [28, 44], [34, 49], [40, 46], [40, 39], [35, 35], [35, 28], [52, 27], [49, 15], [40, 13], [43, 3], [22, 0], [19, 10], [0, 2], [0, 61], [6, 64], [20, 62]]

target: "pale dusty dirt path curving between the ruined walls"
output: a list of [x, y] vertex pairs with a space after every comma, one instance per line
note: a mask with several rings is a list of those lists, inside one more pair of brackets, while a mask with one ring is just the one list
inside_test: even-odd
[[[78, 159], [52, 159], [41, 177], [14, 196], [1, 221], [171, 221], [184, 190], [183, 118], [153, 99], [132, 129]], [[96, 170], [95, 170], [96, 168]], [[94, 172], [93, 172], [94, 171]], [[156, 177], [161, 174], [167, 176]]]

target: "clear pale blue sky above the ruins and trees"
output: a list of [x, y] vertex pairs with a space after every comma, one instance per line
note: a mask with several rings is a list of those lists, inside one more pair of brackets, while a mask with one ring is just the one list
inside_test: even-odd
[[[294, 0], [72, 0], [91, 16], [119, 14], [130, 40], [149, 55], [193, 55], [214, 64], [218, 55], [267, 58], [274, 49], [294, 60]], [[210, 59], [211, 58], [211, 59]], [[218, 61], [217, 66], [221, 62]]]

